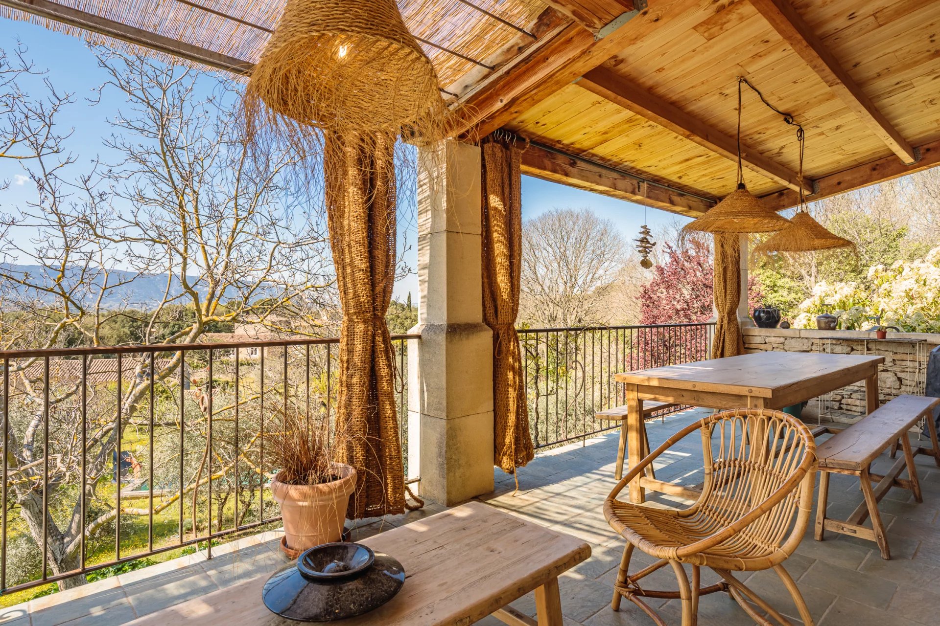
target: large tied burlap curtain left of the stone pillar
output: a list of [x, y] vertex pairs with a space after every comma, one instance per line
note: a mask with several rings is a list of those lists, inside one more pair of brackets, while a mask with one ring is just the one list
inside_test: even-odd
[[326, 137], [330, 247], [339, 336], [337, 460], [355, 467], [352, 519], [404, 511], [395, 365], [385, 313], [395, 282], [395, 136]]

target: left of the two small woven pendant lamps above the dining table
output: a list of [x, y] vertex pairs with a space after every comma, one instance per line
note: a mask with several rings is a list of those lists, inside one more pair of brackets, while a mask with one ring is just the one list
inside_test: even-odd
[[741, 85], [738, 79], [738, 188], [725, 199], [689, 224], [684, 230], [704, 233], [773, 233], [790, 224], [786, 218], [767, 208], [744, 185], [741, 162]]

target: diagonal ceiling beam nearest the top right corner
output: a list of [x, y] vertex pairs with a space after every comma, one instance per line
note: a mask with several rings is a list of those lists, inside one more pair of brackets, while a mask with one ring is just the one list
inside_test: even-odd
[[751, 0], [754, 8], [774, 27], [792, 49], [829, 85], [842, 102], [869, 129], [908, 165], [917, 161], [914, 148], [875, 107], [861, 87], [839, 64], [838, 59], [823, 45], [823, 39], [809, 28], [789, 0]]

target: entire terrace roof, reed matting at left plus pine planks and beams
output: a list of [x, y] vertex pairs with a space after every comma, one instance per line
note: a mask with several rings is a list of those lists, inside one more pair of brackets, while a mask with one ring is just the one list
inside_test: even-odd
[[[137, 19], [146, 12], [121, 9], [134, 1], [0, 5], [246, 74], [284, 2], [157, 0], [187, 10], [167, 8], [151, 28]], [[745, 180], [775, 209], [794, 206], [801, 186], [815, 199], [940, 163], [938, 0], [399, 6], [416, 36], [440, 46], [426, 50], [446, 98], [462, 103], [463, 139], [500, 128], [524, 136], [532, 176], [699, 215], [734, 188], [738, 77], [807, 130], [801, 180], [794, 128], [744, 90]], [[199, 30], [210, 15], [212, 32]]]

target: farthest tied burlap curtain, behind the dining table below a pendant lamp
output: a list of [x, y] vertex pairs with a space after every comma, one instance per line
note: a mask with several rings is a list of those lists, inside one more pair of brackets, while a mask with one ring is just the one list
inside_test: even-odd
[[718, 319], [714, 327], [712, 359], [744, 354], [744, 337], [738, 325], [741, 301], [741, 243], [739, 235], [714, 236], [714, 306]]

